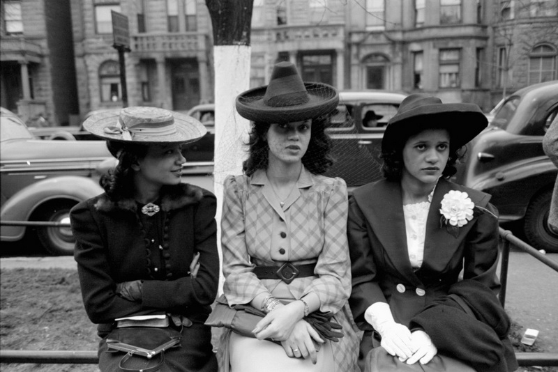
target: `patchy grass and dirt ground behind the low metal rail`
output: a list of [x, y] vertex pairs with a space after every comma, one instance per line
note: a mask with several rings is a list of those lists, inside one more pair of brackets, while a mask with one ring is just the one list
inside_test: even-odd
[[[518, 351], [545, 351], [519, 342], [523, 327], [513, 325]], [[96, 326], [87, 318], [77, 272], [68, 269], [0, 270], [1, 350], [96, 350]], [[5, 372], [98, 372], [87, 364], [1, 364]], [[529, 368], [518, 371], [555, 371]]]

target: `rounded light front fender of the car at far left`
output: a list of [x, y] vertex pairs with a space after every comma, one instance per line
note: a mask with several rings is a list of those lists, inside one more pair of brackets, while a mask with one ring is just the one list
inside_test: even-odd
[[[103, 193], [103, 188], [91, 178], [61, 176], [33, 183], [14, 194], [3, 204], [2, 221], [27, 221], [38, 206], [54, 199], [84, 201]], [[13, 242], [23, 238], [26, 226], [1, 226], [0, 240]]]

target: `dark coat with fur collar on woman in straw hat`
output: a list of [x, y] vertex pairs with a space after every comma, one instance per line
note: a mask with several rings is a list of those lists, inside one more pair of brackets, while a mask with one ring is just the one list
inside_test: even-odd
[[[219, 280], [216, 198], [188, 184], [164, 187], [162, 195], [160, 248], [149, 246], [132, 199], [101, 194], [70, 212], [84, 305], [100, 334], [123, 316], [167, 312], [203, 323], [211, 312]], [[196, 252], [201, 265], [194, 279], [189, 266]], [[117, 283], [137, 279], [143, 280], [141, 302], [116, 295]]]

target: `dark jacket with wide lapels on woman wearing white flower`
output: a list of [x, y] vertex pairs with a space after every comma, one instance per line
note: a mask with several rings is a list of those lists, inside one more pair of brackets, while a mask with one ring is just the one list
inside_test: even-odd
[[[498, 219], [475, 212], [455, 238], [440, 222], [442, 199], [450, 190], [467, 192], [475, 206], [497, 215], [488, 203], [490, 195], [440, 178], [426, 222], [423, 264], [416, 271], [407, 251], [400, 182], [380, 180], [354, 190], [347, 224], [353, 285], [349, 304], [362, 330], [372, 329], [364, 313], [375, 302], [388, 303], [395, 321], [408, 327], [430, 301], [448, 294], [462, 269], [464, 279], [499, 289]], [[398, 284], [405, 286], [403, 292]]]

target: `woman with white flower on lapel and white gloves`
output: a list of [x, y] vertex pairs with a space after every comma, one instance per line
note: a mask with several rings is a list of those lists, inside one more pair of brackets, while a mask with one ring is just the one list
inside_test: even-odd
[[[365, 331], [361, 358], [380, 339], [386, 352], [407, 364], [427, 364], [438, 351], [443, 354], [448, 340], [439, 341], [439, 334], [428, 334], [413, 320], [451, 292], [462, 270], [463, 279], [487, 288], [489, 302], [497, 303], [497, 210], [489, 194], [448, 181], [462, 146], [486, 125], [476, 104], [443, 104], [424, 93], [405, 98], [389, 121], [382, 140], [385, 179], [355, 189], [349, 200], [349, 302]], [[467, 330], [459, 332], [462, 339]], [[507, 346], [511, 357], [509, 341]], [[510, 370], [514, 361], [508, 360]], [[485, 370], [501, 371], [492, 367]]]

